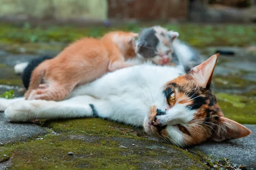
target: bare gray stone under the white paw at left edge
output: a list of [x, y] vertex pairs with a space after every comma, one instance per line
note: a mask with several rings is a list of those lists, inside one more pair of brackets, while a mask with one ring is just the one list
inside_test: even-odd
[[10, 143], [47, 134], [42, 127], [32, 123], [8, 122], [3, 112], [0, 112], [0, 143]]

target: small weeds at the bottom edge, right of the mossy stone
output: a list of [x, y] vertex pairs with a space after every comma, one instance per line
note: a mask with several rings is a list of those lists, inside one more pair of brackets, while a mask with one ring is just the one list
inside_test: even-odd
[[[206, 163], [216, 170], [249, 170], [246, 166], [235, 164], [228, 158], [218, 159], [216, 156], [212, 155], [204, 156], [204, 158]], [[253, 168], [250, 170], [253, 170]]]

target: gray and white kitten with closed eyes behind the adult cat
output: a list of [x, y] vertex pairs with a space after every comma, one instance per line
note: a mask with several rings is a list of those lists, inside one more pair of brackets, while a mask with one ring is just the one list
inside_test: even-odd
[[137, 56], [157, 65], [182, 65], [185, 71], [200, 64], [200, 55], [189, 45], [180, 42], [178, 36], [179, 33], [160, 26], [145, 28], [136, 41]]

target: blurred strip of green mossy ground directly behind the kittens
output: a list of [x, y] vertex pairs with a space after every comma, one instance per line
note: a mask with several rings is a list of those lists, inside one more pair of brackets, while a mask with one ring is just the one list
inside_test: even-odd
[[[75, 26], [31, 26], [2, 24], [2, 42], [72, 42], [84, 36], [100, 37], [108, 31], [124, 30], [140, 32], [143, 27], [152, 25], [126, 24], [125, 26], [75, 27]], [[169, 30], [178, 31], [180, 40], [198, 48], [206, 46], [248, 46], [256, 44], [255, 25], [235, 24], [166, 24]]]

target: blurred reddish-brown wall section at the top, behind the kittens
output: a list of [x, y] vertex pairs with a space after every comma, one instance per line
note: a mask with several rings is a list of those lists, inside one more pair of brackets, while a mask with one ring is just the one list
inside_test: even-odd
[[188, 0], [108, 0], [108, 17], [139, 20], [186, 18]]

